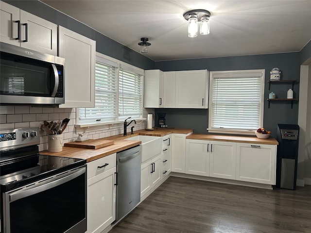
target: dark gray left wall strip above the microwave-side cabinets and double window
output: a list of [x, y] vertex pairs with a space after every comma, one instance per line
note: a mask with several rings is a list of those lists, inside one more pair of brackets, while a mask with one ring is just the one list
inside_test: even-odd
[[[130, 65], [142, 68], [153, 69], [155, 62], [142, 54], [129, 49], [128, 47], [108, 38], [107, 36], [91, 29], [83, 23], [54, 10], [50, 6], [37, 0], [4, 0], [24, 11], [44, 18], [57, 25], [68, 28], [69, 30], [82, 34], [88, 38], [96, 40], [96, 51], [107, 56], [118, 59]], [[74, 3], [72, 3], [74, 4]]]

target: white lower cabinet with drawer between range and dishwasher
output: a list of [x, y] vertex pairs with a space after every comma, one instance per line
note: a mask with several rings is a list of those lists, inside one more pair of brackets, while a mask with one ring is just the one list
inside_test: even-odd
[[116, 219], [116, 153], [87, 163], [87, 233], [101, 233]]

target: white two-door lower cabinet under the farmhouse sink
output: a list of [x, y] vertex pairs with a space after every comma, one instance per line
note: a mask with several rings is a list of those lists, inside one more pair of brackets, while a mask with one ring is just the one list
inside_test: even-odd
[[145, 196], [161, 179], [161, 153], [141, 164], [140, 198]]

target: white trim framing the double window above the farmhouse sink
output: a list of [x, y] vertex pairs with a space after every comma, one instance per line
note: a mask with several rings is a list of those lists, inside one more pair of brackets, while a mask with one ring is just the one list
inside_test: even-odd
[[[84, 127], [95, 127], [95, 128], [98, 128], [99, 126], [105, 126], [105, 125], [108, 125], [107, 127], [108, 128], [114, 128], [114, 127], [120, 127], [121, 126], [121, 123], [123, 123], [124, 121], [124, 117], [120, 117], [119, 116], [119, 71], [120, 71], [120, 68], [122, 69], [125, 69], [125, 70], [128, 70], [128, 71], [131, 71], [131, 72], [135, 72], [139, 75], [142, 76], [142, 103], [143, 103], [143, 93], [144, 93], [144, 70], [141, 69], [141, 68], [138, 68], [138, 67], [135, 67], [135, 66], [132, 66], [130, 64], [127, 64], [125, 62], [122, 62], [122, 61], [119, 61], [115, 58], [112, 58], [112, 57], [109, 57], [107, 55], [104, 55], [102, 53], [99, 53], [99, 52], [96, 52], [96, 59], [95, 59], [95, 63], [99, 61], [101, 63], [106, 63], [107, 65], [110, 65], [110, 66], [115, 66], [117, 67], [117, 74], [118, 74], [118, 79], [117, 79], [117, 96], [118, 96], [118, 99], [117, 99], [117, 118], [115, 120], [109, 120], [109, 121], [102, 121], [102, 122], [80, 122], [79, 121], [79, 108], [76, 108], [76, 126], [78, 128], [84, 128]], [[94, 67], [95, 69], [95, 67]], [[94, 77], [95, 79], [95, 77]], [[136, 121], [140, 121], [142, 122], [143, 120], [145, 120], [146, 118], [143, 118], [143, 111], [144, 111], [144, 107], [143, 107], [143, 104], [142, 104], [142, 113], [140, 116], [138, 117], [135, 117], [135, 120]], [[124, 119], [123, 119], [124, 118]], [[106, 127], [105, 127], [106, 128]]]

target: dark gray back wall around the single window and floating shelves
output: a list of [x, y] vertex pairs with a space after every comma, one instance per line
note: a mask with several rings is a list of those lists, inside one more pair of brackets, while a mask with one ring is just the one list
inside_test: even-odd
[[[233, 56], [218, 58], [202, 58], [188, 60], [174, 60], [155, 62], [155, 68], [163, 71], [207, 69], [216, 70], [242, 70], [242, 69], [265, 69], [265, 94], [263, 126], [276, 137], [276, 125], [297, 124], [298, 102], [294, 102], [291, 109], [290, 102], [271, 102], [268, 108], [269, 93], [275, 92], [278, 98], [286, 98], [287, 90], [292, 84], [271, 84], [269, 90], [268, 80], [270, 70], [278, 67], [282, 70], [282, 80], [299, 81], [300, 54], [299, 52], [277, 53], [252, 56]], [[294, 98], [299, 96], [299, 84], [294, 85]], [[166, 113], [167, 125], [174, 128], [193, 128], [195, 133], [207, 133], [208, 110], [197, 109], [156, 109], [155, 113]]]

